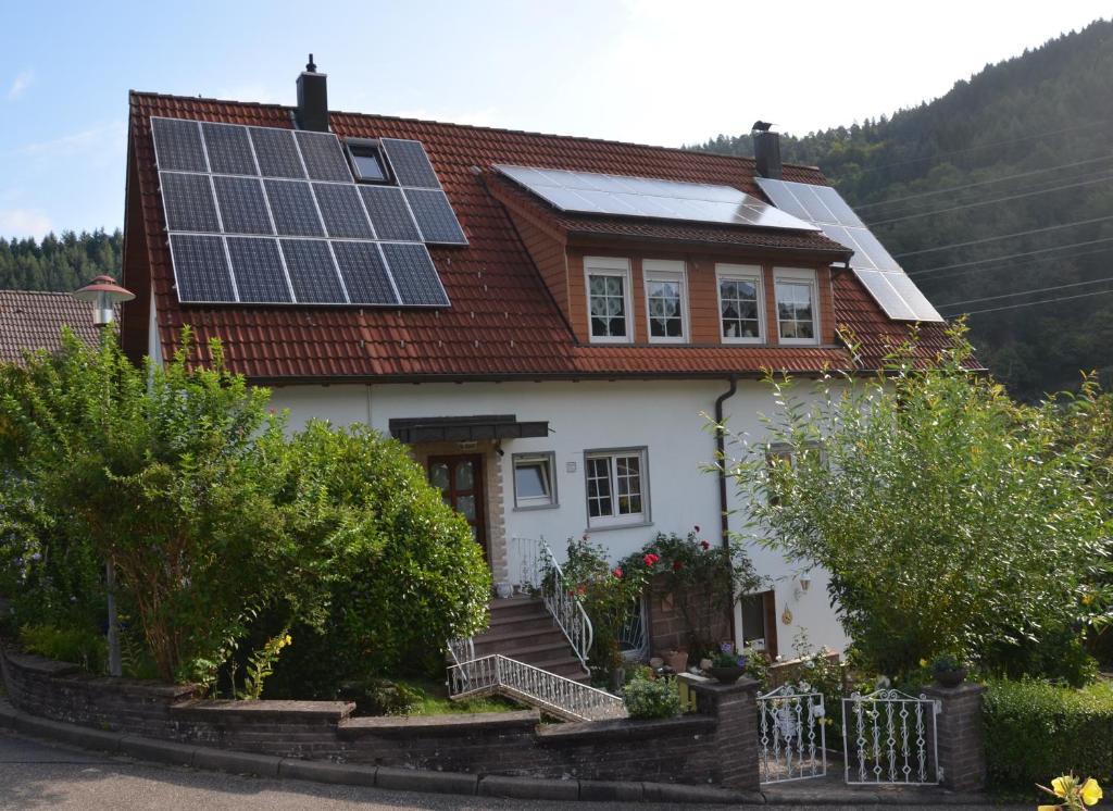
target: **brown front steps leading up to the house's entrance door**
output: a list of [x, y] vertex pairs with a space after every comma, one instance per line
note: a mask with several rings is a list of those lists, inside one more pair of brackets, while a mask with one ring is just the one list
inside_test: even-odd
[[572, 681], [588, 673], [541, 600], [526, 596], [491, 602], [491, 627], [475, 636], [475, 656], [501, 654]]

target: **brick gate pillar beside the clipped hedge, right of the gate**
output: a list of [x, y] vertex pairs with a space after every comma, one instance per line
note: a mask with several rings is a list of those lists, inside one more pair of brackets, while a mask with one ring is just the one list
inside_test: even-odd
[[952, 791], [978, 791], [985, 784], [985, 746], [982, 743], [982, 684], [943, 688], [933, 684], [924, 691], [928, 699], [942, 702], [936, 716], [936, 739], [943, 784]]

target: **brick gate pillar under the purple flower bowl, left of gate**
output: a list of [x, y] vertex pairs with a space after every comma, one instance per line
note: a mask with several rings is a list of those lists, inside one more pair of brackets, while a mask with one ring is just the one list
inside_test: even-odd
[[719, 684], [707, 679], [681, 673], [699, 704], [700, 713], [718, 722], [713, 756], [725, 789], [757, 791], [758, 771], [758, 683], [739, 679], [733, 684]]

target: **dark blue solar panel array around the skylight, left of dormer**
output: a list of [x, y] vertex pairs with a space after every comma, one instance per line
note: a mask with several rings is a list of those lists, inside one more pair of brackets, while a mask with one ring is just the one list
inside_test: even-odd
[[335, 135], [151, 118], [179, 300], [446, 307], [426, 245], [466, 245], [421, 141], [356, 184]]

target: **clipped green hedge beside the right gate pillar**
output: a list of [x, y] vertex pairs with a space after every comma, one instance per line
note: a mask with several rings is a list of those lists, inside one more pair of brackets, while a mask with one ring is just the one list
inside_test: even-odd
[[986, 765], [997, 788], [1047, 785], [1074, 772], [1113, 779], [1113, 686], [991, 681], [983, 710]]

